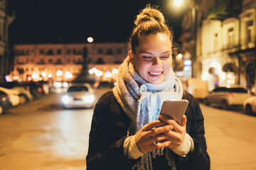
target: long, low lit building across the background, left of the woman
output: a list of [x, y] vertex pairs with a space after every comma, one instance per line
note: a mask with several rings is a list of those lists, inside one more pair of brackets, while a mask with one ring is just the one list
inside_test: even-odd
[[[90, 70], [98, 81], [113, 81], [127, 56], [124, 42], [14, 45], [14, 71], [8, 81], [72, 81]], [[107, 74], [106, 74], [107, 73]]]

